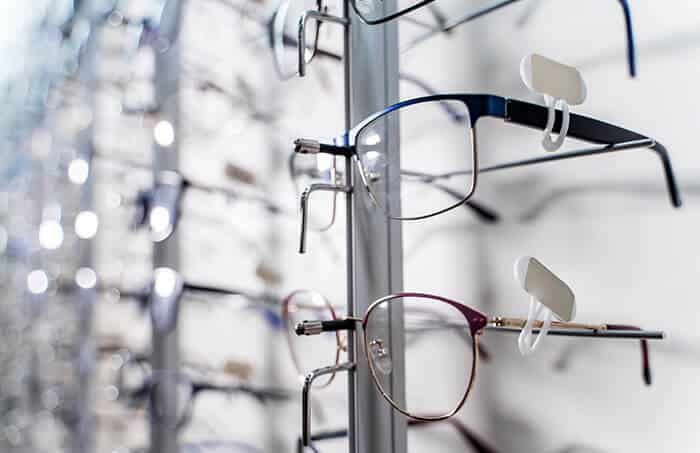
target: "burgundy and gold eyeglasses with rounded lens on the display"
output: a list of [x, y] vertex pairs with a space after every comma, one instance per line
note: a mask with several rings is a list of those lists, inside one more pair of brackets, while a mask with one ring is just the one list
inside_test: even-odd
[[[414, 345], [401, 355], [393, 354], [392, 333], [397, 339], [396, 326], [390, 329], [389, 319], [397, 313], [403, 314], [403, 326], [399, 335], [405, 343], [412, 341], [416, 333], [429, 331], [429, 340], [421, 347]], [[444, 319], [449, 319], [445, 322]], [[374, 383], [384, 399], [403, 415], [423, 421], [450, 418], [464, 405], [475, 382], [478, 343], [486, 330], [496, 332], [520, 332], [525, 319], [488, 317], [479, 311], [454, 300], [423, 293], [392, 294], [373, 302], [363, 318], [345, 318], [328, 321], [305, 321], [295, 328], [297, 335], [318, 335], [322, 332], [354, 330], [362, 326], [362, 343], [365, 359]], [[539, 332], [542, 322], [535, 322]], [[470, 342], [464, 342], [468, 335]], [[663, 339], [663, 332], [646, 331], [635, 326], [617, 324], [581, 324], [552, 322], [549, 335], [580, 336], [594, 338], [638, 339], [642, 346], [642, 363], [645, 375], [648, 370], [648, 348], [646, 341]], [[401, 341], [401, 340], [398, 340]], [[315, 370], [304, 382], [304, 398], [320, 376], [341, 370], [353, 369], [353, 363], [343, 363]], [[401, 369], [406, 377], [405, 396], [393, 395], [391, 375]], [[458, 380], [446, 380], [445, 376], [458, 376]], [[426, 392], [425, 389], [430, 389]], [[308, 412], [308, 404], [304, 410]], [[304, 445], [309, 443], [309, 414], [304, 413]]]

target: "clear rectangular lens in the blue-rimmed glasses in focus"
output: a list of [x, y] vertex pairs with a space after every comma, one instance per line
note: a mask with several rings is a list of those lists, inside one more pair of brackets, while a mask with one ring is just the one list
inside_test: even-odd
[[[387, 157], [397, 148], [400, 162]], [[462, 204], [473, 191], [471, 122], [461, 101], [396, 109], [365, 126], [357, 135], [356, 149], [374, 201], [391, 218], [429, 217]]]

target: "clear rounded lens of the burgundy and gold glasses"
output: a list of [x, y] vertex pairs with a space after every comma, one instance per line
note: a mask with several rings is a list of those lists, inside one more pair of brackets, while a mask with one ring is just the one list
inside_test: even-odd
[[[395, 326], [389, 328], [396, 309], [403, 310], [403, 357], [393, 348]], [[374, 306], [367, 314], [365, 347], [372, 375], [385, 398], [417, 418], [444, 417], [458, 410], [475, 364], [470, 332], [457, 308], [434, 299], [395, 297]], [[391, 376], [401, 366], [405, 396], [392, 394]]]

